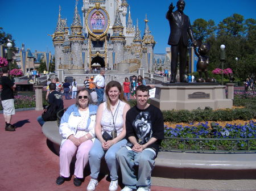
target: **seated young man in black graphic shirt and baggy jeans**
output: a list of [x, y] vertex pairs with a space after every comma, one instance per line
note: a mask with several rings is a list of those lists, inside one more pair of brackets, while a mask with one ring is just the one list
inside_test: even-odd
[[[125, 185], [121, 191], [150, 190], [154, 159], [164, 139], [164, 124], [160, 109], [147, 103], [148, 93], [146, 86], [138, 86], [135, 90], [137, 105], [126, 113], [129, 143], [120, 148], [116, 156]], [[135, 165], [138, 165], [138, 176], [135, 175]]]

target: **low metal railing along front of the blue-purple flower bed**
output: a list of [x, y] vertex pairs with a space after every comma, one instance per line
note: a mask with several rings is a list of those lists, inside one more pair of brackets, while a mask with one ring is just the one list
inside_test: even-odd
[[162, 151], [181, 152], [256, 152], [256, 138], [165, 137]]

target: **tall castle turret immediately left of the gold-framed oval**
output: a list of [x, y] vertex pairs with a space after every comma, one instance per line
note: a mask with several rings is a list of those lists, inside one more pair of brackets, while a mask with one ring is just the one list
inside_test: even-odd
[[76, 0], [73, 23], [71, 24], [71, 35], [69, 36], [71, 43], [71, 58], [69, 59], [69, 63], [71, 64], [71, 69], [83, 69], [81, 52], [84, 36], [82, 35], [82, 24], [77, 10], [77, 3], [78, 1]]

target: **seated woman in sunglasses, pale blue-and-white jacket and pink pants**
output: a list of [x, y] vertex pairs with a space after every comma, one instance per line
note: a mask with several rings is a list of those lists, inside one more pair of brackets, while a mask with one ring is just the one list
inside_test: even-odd
[[70, 163], [76, 154], [75, 186], [80, 186], [84, 177], [84, 167], [88, 163], [88, 154], [94, 142], [94, 126], [97, 105], [93, 105], [89, 90], [82, 88], [77, 92], [76, 104], [71, 105], [60, 121], [60, 176], [57, 185], [63, 184], [70, 176]]

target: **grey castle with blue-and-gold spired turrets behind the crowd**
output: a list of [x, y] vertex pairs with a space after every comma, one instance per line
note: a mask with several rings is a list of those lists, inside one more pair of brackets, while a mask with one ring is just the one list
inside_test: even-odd
[[55, 47], [55, 69], [83, 74], [96, 66], [128, 72], [144, 68], [154, 70], [155, 40], [148, 27], [141, 37], [133, 25], [126, 0], [83, 0], [82, 20], [77, 1], [70, 30], [59, 11], [57, 27], [52, 36]]

